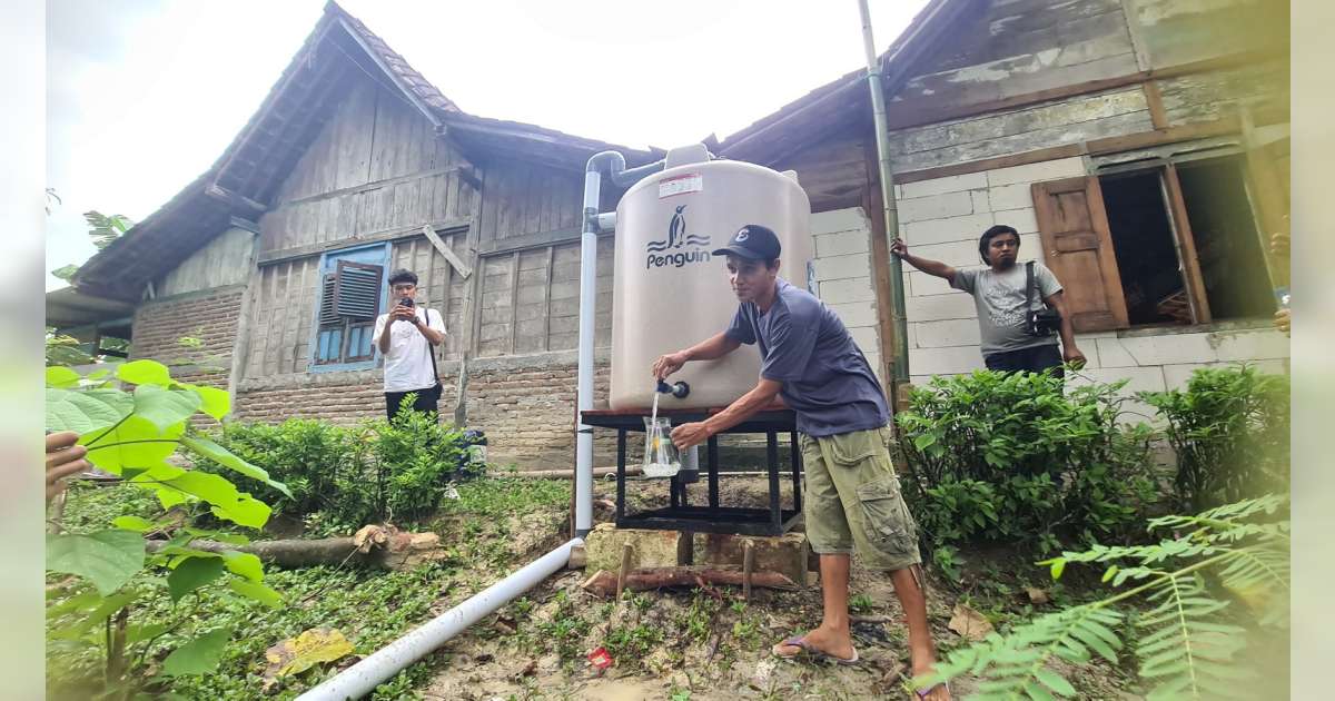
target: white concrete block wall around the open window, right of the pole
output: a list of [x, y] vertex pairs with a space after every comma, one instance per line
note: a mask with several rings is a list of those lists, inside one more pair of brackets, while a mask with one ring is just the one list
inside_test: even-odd
[[[896, 186], [900, 235], [914, 255], [983, 267], [979, 236], [992, 224], [1009, 224], [1020, 232], [1020, 260], [1041, 260], [1029, 188], [1083, 175], [1084, 160], [1069, 158]], [[973, 299], [912, 266], [904, 266], [904, 288], [913, 383], [981, 369]], [[1192, 370], [1210, 365], [1248, 361], [1275, 373], [1288, 367], [1288, 339], [1264, 323], [1079, 334], [1076, 340], [1089, 361], [1081, 373], [1088, 379], [1072, 385], [1129, 379], [1128, 394], [1181, 387]]]

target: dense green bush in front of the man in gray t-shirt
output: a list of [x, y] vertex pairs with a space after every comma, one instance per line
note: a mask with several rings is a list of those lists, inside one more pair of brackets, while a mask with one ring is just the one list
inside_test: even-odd
[[939, 565], [971, 539], [1048, 551], [1121, 534], [1152, 498], [1149, 429], [1119, 423], [1123, 385], [1064, 394], [1051, 375], [980, 370], [914, 389], [896, 417], [904, 498]]

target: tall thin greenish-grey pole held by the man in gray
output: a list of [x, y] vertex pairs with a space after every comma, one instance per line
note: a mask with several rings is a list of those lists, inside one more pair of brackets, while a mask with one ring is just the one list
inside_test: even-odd
[[[872, 40], [872, 13], [866, 0], [857, 0], [862, 15], [862, 49], [866, 52], [866, 87], [872, 91], [872, 123], [876, 128], [876, 155], [881, 180], [881, 203], [885, 206], [886, 247], [900, 231], [898, 210], [894, 204], [894, 172], [890, 168], [889, 127], [885, 119], [885, 91], [881, 85], [881, 61], [876, 57], [876, 41]], [[904, 264], [890, 256], [890, 322], [894, 326], [894, 381], [892, 390], [897, 395], [898, 386], [909, 381], [908, 314], [904, 308]]]

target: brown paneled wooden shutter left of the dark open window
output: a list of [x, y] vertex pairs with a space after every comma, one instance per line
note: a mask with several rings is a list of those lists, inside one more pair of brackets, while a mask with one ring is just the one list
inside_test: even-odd
[[1099, 179], [1035, 183], [1032, 191], [1044, 264], [1065, 290], [1076, 331], [1129, 326]]

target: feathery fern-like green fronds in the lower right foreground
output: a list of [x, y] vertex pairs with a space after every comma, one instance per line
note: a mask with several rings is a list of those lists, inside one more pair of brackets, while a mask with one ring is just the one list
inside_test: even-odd
[[[1117, 664], [1132, 646], [1148, 698], [1283, 698], [1250, 688], [1259, 680], [1240, 656], [1248, 638], [1287, 641], [1290, 523], [1286, 501], [1264, 495], [1204, 511], [1149, 521], [1176, 535], [1156, 545], [1067, 551], [1047, 565], [1053, 578], [1071, 563], [1104, 566], [1119, 593], [1071, 606], [952, 652], [926, 688], [961, 674], [981, 676], [973, 698], [1075, 697], [1056, 660], [1084, 665], [1099, 656]], [[1124, 589], [1123, 589], [1124, 588]], [[1236, 604], [1242, 606], [1236, 606]], [[1144, 606], [1136, 610], [1132, 604]]]

